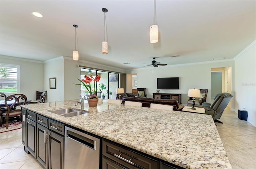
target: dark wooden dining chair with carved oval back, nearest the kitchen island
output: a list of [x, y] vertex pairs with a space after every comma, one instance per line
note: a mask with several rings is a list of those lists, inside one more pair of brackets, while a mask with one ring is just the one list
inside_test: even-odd
[[9, 117], [20, 116], [20, 121], [22, 121], [22, 110], [16, 109], [16, 107], [26, 104], [26, 101], [27, 97], [24, 94], [13, 94], [6, 97], [4, 101], [6, 111], [2, 112], [0, 126], [2, 126], [4, 117], [6, 117], [6, 129], [8, 129]]

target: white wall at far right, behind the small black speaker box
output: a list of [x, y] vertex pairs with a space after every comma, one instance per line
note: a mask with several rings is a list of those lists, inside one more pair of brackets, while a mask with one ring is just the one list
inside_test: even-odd
[[248, 122], [256, 126], [256, 41], [236, 56], [235, 109], [248, 111]]

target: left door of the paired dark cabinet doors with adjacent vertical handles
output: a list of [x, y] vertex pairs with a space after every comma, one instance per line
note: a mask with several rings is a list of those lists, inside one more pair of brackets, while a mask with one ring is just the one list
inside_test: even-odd
[[46, 133], [48, 129], [40, 124], [36, 126], [36, 159], [41, 163], [44, 168], [48, 167], [47, 161], [47, 144], [46, 144]]

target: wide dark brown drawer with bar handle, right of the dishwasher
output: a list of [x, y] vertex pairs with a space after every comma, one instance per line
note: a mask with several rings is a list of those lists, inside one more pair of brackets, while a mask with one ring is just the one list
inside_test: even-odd
[[130, 169], [159, 169], [159, 161], [120, 147], [106, 140], [102, 141], [102, 154]]

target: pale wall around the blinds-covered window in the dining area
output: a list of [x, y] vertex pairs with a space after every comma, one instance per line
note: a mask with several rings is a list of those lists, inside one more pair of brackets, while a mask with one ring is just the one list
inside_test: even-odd
[[45, 90], [43, 62], [0, 56], [0, 63], [20, 65], [20, 93], [26, 95], [27, 99], [35, 100], [36, 90]]

